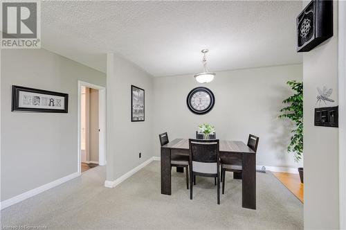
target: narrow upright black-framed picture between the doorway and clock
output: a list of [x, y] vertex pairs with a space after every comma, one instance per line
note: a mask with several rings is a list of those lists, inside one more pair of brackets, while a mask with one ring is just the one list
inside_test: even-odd
[[[143, 99], [141, 99], [141, 96], [139, 95], [139, 98], [136, 98], [136, 96], [134, 96], [134, 90], [138, 91], [139, 94], [140, 92], [143, 91]], [[136, 105], [134, 105], [134, 99], [135, 100], [143, 100], [143, 105], [141, 105], [142, 103], [136, 103]], [[134, 108], [134, 106], [136, 106], [137, 108]], [[143, 112], [143, 116], [142, 116], [142, 112]], [[138, 121], [145, 121], [145, 90], [140, 88], [140, 87], [136, 87], [135, 85], [131, 85], [131, 122], [138, 122]]]

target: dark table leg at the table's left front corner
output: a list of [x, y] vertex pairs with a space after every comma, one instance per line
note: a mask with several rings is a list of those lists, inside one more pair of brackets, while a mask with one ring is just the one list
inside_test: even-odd
[[161, 148], [161, 194], [172, 194], [170, 148]]

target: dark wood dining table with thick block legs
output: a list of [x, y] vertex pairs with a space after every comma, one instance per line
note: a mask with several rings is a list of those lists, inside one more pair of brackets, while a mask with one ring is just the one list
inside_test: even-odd
[[[256, 153], [242, 141], [219, 141], [221, 163], [239, 162], [242, 175], [234, 174], [235, 179], [242, 178], [242, 206], [256, 209]], [[189, 156], [189, 140], [174, 139], [161, 146], [161, 194], [171, 195], [171, 155]]]

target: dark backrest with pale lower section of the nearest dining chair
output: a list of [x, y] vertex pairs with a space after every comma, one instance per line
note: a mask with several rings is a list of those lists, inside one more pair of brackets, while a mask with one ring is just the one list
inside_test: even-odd
[[206, 174], [219, 172], [219, 140], [189, 139], [192, 171]]

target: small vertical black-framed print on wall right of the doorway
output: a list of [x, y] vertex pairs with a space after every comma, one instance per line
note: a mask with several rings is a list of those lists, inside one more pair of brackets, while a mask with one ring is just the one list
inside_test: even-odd
[[144, 89], [140, 89], [131, 85], [131, 121], [144, 121], [145, 111], [145, 93]]

